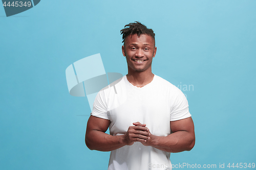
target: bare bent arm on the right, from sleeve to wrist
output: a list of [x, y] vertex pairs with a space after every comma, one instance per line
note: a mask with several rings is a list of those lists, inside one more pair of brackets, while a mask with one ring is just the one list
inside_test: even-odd
[[150, 134], [150, 139], [142, 144], [172, 153], [190, 151], [194, 147], [195, 131], [191, 117], [170, 122], [170, 129], [172, 134], [168, 136]]

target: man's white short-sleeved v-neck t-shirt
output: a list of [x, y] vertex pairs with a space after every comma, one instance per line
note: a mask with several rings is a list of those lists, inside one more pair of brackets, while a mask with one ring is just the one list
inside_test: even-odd
[[[154, 76], [139, 88], [124, 76], [103, 88], [96, 96], [91, 115], [109, 119], [110, 134], [125, 134], [133, 123], [146, 124], [153, 135], [171, 133], [170, 121], [190, 117], [185, 95], [168, 81]], [[111, 151], [109, 170], [172, 169], [170, 153], [140, 142]]]

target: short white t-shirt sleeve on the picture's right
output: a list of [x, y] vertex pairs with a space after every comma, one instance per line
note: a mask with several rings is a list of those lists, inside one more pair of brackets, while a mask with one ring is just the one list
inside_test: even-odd
[[180, 120], [191, 116], [188, 110], [186, 96], [181, 90], [178, 89], [177, 96], [172, 102], [174, 102], [174, 104], [170, 110], [170, 121]]

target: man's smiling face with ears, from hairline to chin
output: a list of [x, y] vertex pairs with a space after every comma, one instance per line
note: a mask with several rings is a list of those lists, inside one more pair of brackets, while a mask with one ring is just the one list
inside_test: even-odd
[[146, 34], [140, 37], [137, 34], [129, 35], [122, 46], [122, 53], [126, 57], [129, 71], [151, 72], [152, 59], [156, 52], [154, 39]]

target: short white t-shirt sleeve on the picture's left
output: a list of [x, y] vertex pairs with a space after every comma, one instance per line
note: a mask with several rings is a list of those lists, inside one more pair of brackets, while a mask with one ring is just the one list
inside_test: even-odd
[[95, 98], [91, 115], [104, 119], [110, 119], [103, 90], [99, 91]]

